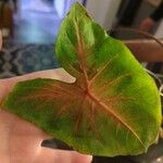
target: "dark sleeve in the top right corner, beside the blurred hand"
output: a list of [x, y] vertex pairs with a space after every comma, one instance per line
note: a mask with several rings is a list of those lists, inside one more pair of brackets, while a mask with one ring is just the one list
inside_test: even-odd
[[161, 4], [156, 8], [156, 10], [150, 15], [150, 17], [154, 21], [158, 22], [163, 17], [163, 1]]

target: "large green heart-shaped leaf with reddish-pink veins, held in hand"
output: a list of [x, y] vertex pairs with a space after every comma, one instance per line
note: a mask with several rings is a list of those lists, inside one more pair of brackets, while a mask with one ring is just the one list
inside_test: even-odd
[[125, 45], [75, 3], [61, 25], [57, 54], [76, 82], [18, 83], [3, 108], [83, 153], [146, 152], [161, 127], [161, 101], [153, 79]]

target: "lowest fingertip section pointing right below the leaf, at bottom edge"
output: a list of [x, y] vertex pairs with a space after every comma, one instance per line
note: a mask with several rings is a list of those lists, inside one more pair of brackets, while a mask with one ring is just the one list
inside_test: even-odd
[[39, 159], [36, 162], [46, 163], [48, 158], [48, 163], [90, 163], [92, 160], [91, 155], [82, 154], [75, 151], [64, 151], [64, 150], [51, 150], [48, 148], [42, 148]]

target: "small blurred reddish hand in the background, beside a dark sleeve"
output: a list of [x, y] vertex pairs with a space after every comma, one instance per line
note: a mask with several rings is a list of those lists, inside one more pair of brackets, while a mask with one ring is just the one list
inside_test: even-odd
[[151, 17], [145, 18], [140, 24], [140, 30], [150, 32], [155, 25], [155, 22]]

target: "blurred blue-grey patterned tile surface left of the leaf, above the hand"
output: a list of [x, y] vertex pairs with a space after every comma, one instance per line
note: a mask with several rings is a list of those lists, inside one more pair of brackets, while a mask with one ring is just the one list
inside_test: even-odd
[[7, 43], [0, 52], [0, 78], [59, 66], [53, 45]]

